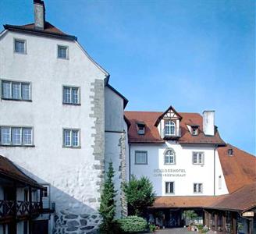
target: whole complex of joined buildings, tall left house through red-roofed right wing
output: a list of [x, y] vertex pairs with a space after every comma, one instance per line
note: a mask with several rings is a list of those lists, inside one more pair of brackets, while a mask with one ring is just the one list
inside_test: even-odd
[[[151, 221], [182, 225], [181, 211], [204, 208], [215, 212], [204, 212], [206, 224], [224, 227], [228, 219], [219, 222], [215, 210], [226, 209], [229, 195], [254, 192], [255, 158], [226, 145], [212, 111], [124, 115], [128, 101], [109, 74], [44, 11], [34, 0], [34, 23], [5, 25], [0, 34], [0, 234], [96, 232], [109, 161], [117, 218], [127, 214], [121, 183], [147, 176], [157, 196]], [[240, 203], [256, 204], [250, 199]], [[213, 204], [219, 200], [225, 205]], [[236, 213], [224, 215], [235, 229]]]

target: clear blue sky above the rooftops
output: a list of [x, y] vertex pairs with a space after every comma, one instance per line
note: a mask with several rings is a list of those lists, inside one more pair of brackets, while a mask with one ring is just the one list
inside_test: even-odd
[[[32, 0], [1, 0], [0, 24], [34, 21]], [[255, 154], [255, 2], [45, 0], [129, 99], [127, 110], [215, 110], [223, 140]]]

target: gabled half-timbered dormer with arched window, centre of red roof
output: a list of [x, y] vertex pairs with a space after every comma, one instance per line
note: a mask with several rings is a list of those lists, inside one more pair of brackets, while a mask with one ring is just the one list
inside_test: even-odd
[[181, 136], [180, 120], [182, 117], [170, 106], [155, 122], [162, 139], [174, 140]]

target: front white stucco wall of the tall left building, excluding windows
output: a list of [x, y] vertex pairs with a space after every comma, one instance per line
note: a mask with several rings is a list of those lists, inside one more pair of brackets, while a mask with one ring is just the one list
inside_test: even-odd
[[[13, 38], [27, 41], [27, 55], [13, 53]], [[68, 60], [57, 58], [57, 44], [69, 47]], [[73, 41], [12, 32], [0, 38], [0, 79], [32, 86], [32, 102], [0, 101], [0, 113], [4, 113], [0, 125], [34, 128], [34, 147], [1, 146], [0, 154], [39, 183], [50, 183], [57, 211], [98, 209], [98, 200], [90, 202], [100, 197], [95, 186], [100, 171], [94, 169], [99, 162], [94, 160], [91, 137], [96, 120], [90, 116], [94, 107], [91, 83], [104, 78], [105, 73]], [[62, 85], [80, 87], [80, 106], [62, 105]], [[80, 149], [62, 147], [62, 128], [80, 129]]]

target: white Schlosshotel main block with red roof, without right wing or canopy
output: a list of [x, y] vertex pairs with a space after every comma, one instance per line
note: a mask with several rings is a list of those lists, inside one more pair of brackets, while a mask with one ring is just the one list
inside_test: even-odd
[[216, 150], [225, 143], [215, 129], [214, 112], [201, 118], [170, 107], [164, 113], [126, 112], [126, 118], [131, 122], [130, 174], [147, 175], [157, 196], [228, 193]]

